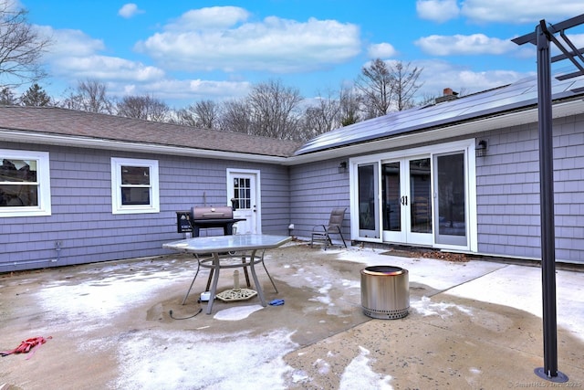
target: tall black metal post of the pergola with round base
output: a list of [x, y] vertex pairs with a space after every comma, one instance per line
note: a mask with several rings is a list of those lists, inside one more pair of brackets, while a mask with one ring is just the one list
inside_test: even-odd
[[542, 20], [536, 27], [536, 37], [544, 367], [536, 368], [535, 373], [552, 382], [567, 382], [568, 376], [558, 372], [554, 149], [549, 34], [545, 20]]

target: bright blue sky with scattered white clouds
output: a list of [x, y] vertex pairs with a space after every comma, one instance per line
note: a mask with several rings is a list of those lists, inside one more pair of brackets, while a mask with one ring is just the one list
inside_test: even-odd
[[[20, 0], [53, 45], [56, 98], [98, 79], [112, 97], [171, 107], [246, 95], [280, 79], [305, 98], [349, 85], [372, 58], [423, 68], [420, 95], [466, 93], [534, 74], [536, 51], [510, 39], [584, 13], [582, 0]], [[584, 46], [584, 28], [568, 31]]]

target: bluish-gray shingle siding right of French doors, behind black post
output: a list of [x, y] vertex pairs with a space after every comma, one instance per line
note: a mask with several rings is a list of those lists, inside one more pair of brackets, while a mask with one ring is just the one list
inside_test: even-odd
[[[584, 261], [584, 115], [554, 121], [556, 258]], [[478, 249], [540, 258], [537, 123], [485, 134], [476, 161]]]

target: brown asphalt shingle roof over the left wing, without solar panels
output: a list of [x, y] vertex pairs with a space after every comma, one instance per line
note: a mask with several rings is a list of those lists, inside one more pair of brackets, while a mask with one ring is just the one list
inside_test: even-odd
[[57, 107], [0, 107], [2, 129], [276, 157], [292, 156], [302, 144]]

